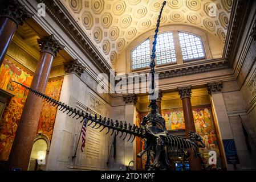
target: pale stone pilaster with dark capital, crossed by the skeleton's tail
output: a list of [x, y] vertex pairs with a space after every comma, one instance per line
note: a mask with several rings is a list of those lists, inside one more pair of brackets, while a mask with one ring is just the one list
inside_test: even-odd
[[[136, 103], [137, 96], [136, 94], [128, 94], [123, 96], [125, 102], [125, 121], [127, 124], [131, 125], [136, 124]], [[124, 143], [124, 165], [128, 166], [129, 162], [133, 160], [134, 163], [131, 163], [131, 169], [136, 170], [136, 142], [131, 143], [131, 139], [127, 142], [128, 137], [125, 139]]]

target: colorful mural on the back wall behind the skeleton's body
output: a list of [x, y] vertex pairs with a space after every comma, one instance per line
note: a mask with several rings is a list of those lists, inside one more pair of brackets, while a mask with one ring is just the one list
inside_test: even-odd
[[[221, 156], [218, 146], [218, 140], [216, 135], [216, 129], [214, 126], [214, 118], [210, 105], [192, 107], [194, 123], [196, 131], [203, 138], [206, 147], [200, 148], [200, 154], [204, 160], [206, 168], [218, 168], [221, 167]], [[143, 117], [147, 115], [147, 112], [139, 113], [136, 112], [136, 123], [141, 122]], [[140, 117], [140, 119], [139, 119]], [[184, 115], [182, 108], [178, 109], [166, 109], [162, 110], [162, 117], [165, 119], [165, 125], [167, 130], [180, 130], [185, 129]], [[141, 141], [141, 148], [144, 148], [144, 141]], [[216, 151], [217, 153], [217, 164], [210, 165], [209, 151]], [[141, 160], [141, 167], [144, 169], [145, 155]]]

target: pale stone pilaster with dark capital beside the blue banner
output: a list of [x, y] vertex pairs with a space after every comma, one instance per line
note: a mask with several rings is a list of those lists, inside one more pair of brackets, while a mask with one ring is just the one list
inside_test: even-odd
[[220, 142], [220, 153], [222, 159], [222, 167], [233, 170], [232, 164], [227, 164], [224, 151], [223, 139], [233, 139], [229, 116], [227, 115], [224, 97], [222, 95], [222, 82], [210, 82], [207, 84], [208, 93], [211, 96], [212, 107], [214, 110], [214, 118], [216, 119], [216, 130]]

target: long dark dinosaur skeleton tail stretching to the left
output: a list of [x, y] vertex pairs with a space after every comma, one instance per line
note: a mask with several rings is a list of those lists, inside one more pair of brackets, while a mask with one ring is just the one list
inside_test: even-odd
[[123, 138], [123, 140], [127, 137], [127, 134], [130, 134], [128, 141], [133, 136], [132, 142], [136, 137], [145, 138], [145, 127], [144, 126], [138, 127], [135, 125], [131, 125], [130, 123], [127, 124], [126, 121], [124, 123], [122, 121], [119, 122], [117, 120], [115, 122], [113, 122], [112, 119], [109, 119], [109, 118], [107, 119], [106, 117], [103, 118], [103, 117], [101, 117], [101, 115], [97, 115], [97, 114], [92, 116], [87, 111], [86, 111], [86, 113], [84, 113], [83, 111], [80, 111], [79, 109], [73, 109], [72, 107], [68, 106], [67, 104], [64, 104], [63, 102], [56, 101], [54, 98], [46, 96], [45, 94], [40, 93], [37, 90], [31, 89], [26, 85], [23, 85], [16, 81], [13, 81], [13, 82], [23, 86], [25, 89], [29, 90], [31, 93], [34, 93], [36, 96], [43, 98], [44, 100], [46, 100], [46, 102], [48, 102], [52, 106], [54, 106], [54, 107], [56, 106], [56, 108], [58, 108], [60, 111], [63, 111], [63, 113], [69, 114], [68, 116], [70, 116], [72, 118], [76, 117], [75, 119], [82, 118], [82, 120], [80, 122], [83, 122], [84, 119], [87, 119], [87, 124], [88, 124], [87, 126], [92, 125], [92, 123], [94, 123], [94, 126], [92, 126], [92, 128], [95, 128], [97, 126], [95, 129], [99, 129], [102, 126], [102, 129], [100, 130], [100, 132], [103, 131], [105, 128], [107, 128], [108, 131], [106, 134], [108, 134], [109, 131], [112, 129], [111, 135], [113, 135], [114, 131], [117, 131], [116, 135], [118, 135], [119, 132], [121, 133], [120, 138], [123, 136], [123, 134], [125, 134], [125, 137]]

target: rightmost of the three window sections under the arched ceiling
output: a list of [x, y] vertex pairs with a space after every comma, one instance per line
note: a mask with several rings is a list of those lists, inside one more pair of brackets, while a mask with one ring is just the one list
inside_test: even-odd
[[183, 60], [202, 59], [205, 57], [201, 39], [192, 34], [178, 32]]

